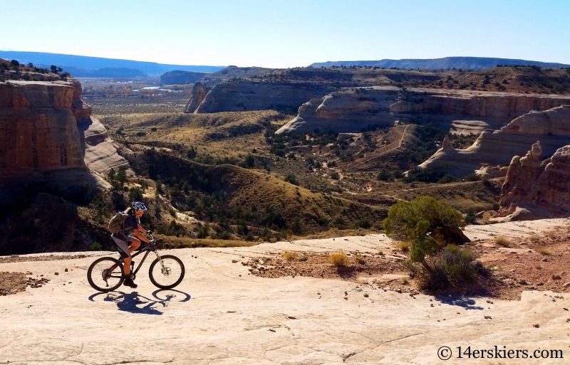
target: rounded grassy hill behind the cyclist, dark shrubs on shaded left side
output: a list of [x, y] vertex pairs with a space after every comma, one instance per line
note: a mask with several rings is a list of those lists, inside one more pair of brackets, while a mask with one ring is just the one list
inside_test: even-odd
[[[152, 149], [147, 149], [138, 161], [139, 174], [173, 188], [171, 203], [179, 210], [203, 211], [204, 218], [209, 216], [230, 225], [247, 224], [274, 231], [288, 228], [302, 233], [329, 225], [358, 226], [361, 221], [380, 226], [385, 216], [385, 208], [314, 193], [239, 166], [208, 166]], [[197, 210], [200, 201], [205, 205]]]

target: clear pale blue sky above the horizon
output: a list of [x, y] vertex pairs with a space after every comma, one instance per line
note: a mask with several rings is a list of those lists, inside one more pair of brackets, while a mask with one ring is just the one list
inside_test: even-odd
[[451, 55], [570, 63], [570, 0], [28, 0], [0, 9], [3, 51], [264, 67]]

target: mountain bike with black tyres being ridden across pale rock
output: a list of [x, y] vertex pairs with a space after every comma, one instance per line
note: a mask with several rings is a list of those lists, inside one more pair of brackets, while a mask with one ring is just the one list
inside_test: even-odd
[[[140, 260], [138, 267], [135, 269], [135, 262], [130, 262], [130, 273], [133, 279], [136, 277], [138, 270], [145, 262], [148, 254], [153, 252], [156, 259], [150, 264], [148, 270], [148, 277], [150, 282], [160, 289], [172, 289], [182, 282], [185, 274], [184, 264], [180, 258], [173, 255], [159, 255], [157, 250], [156, 238], [152, 236], [152, 232], [148, 231], [150, 236], [150, 243], [141, 248], [137, 253], [133, 253], [132, 258], [145, 253], [145, 256]], [[125, 280], [125, 272], [123, 271], [123, 258], [98, 258], [95, 260], [87, 270], [87, 281], [93, 289], [100, 292], [111, 292]]]

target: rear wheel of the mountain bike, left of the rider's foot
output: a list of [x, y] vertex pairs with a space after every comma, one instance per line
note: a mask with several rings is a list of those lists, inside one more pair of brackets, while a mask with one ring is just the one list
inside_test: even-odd
[[116, 258], [98, 258], [87, 270], [87, 281], [99, 292], [111, 292], [125, 280], [123, 264]]

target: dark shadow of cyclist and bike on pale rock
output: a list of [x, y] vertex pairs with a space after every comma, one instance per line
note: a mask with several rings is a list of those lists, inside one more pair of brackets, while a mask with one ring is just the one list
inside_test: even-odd
[[173, 302], [176, 297], [175, 294], [164, 295], [165, 299], [158, 297], [160, 292], [178, 292], [185, 297], [182, 300], [177, 300], [177, 302], [187, 302], [190, 300], [190, 295], [185, 292], [180, 292], [179, 290], [156, 290], [152, 293], [152, 296], [157, 300], [153, 300], [140, 295], [138, 292], [108, 292], [108, 293], [96, 293], [90, 295], [89, 300], [95, 302], [95, 297], [99, 295], [105, 295], [103, 300], [105, 302], [114, 302], [117, 305], [117, 309], [123, 312], [130, 312], [136, 314], [151, 314], [151, 315], [162, 315], [162, 312], [158, 309], [168, 307], [169, 302]]

